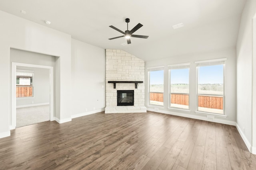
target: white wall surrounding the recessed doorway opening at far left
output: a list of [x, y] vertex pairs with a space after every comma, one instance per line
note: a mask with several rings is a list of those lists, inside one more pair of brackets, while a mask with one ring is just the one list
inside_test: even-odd
[[[0, 11], [0, 72], [1, 89], [10, 89], [10, 48], [58, 56], [56, 60], [55, 117], [62, 123], [71, 120], [71, 36], [32, 21]], [[61, 100], [60, 100], [61, 96]], [[4, 90], [0, 96], [0, 137], [10, 135], [11, 93]]]

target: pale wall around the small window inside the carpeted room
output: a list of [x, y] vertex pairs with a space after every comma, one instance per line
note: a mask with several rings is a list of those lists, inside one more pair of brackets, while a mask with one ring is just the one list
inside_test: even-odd
[[20, 70], [33, 70], [33, 97], [16, 98], [16, 106], [27, 106], [36, 104], [50, 104], [50, 70], [47, 68], [36, 68], [17, 66]]

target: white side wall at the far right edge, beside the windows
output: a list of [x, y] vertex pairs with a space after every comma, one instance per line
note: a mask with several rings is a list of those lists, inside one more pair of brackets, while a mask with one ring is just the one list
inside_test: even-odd
[[[237, 53], [237, 124], [244, 128], [244, 137], [249, 145], [252, 143], [252, 19], [256, 13], [256, 1], [247, 0], [240, 22], [240, 30], [236, 45]], [[255, 29], [255, 28], [254, 28]], [[255, 84], [254, 84], [255, 86]], [[255, 96], [254, 96], [255, 97]], [[254, 104], [255, 105], [255, 104]], [[255, 124], [255, 122], [253, 123]], [[240, 132], [241, 133], [241, 132]], [[253, 135], [253, 136], [252, 136]], [[242, 135], [243, 136], [243, 135]], [[247, 144], [248, 147], [248, 144]]]

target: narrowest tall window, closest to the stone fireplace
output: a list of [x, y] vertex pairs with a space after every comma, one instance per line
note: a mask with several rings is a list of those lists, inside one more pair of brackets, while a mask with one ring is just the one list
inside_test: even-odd
[[148, 72], [149, 105], [164, 106], [164, 70]]

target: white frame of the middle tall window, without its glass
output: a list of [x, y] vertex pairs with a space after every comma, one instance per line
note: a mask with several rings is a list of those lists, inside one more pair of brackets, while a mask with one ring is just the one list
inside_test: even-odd
[[[184, 111], [189, 111], [190, 107], [189, 107], [189, 96], [190, 96], [190, 91], [188, 90], [188, 109], [186, 108], [180, 108], [180, 107], [171, 107], [171, 70], [174, 69], [185, 69], [188, 68], [188, 89], [190, 87], [190, 81], [189, 81], [189, 77], [190, 77], [190, 63], [181, 63], [181, 64], [170, 64], [168, 65], [168, 69], [169, 69], [169, 93], [168, 93], [168, 98], [169, 98], [169, 106], [168, 109], [179, 109], [179, 110], [184, 110]], [[178, 93], [181, 94], [181, 93]]]

